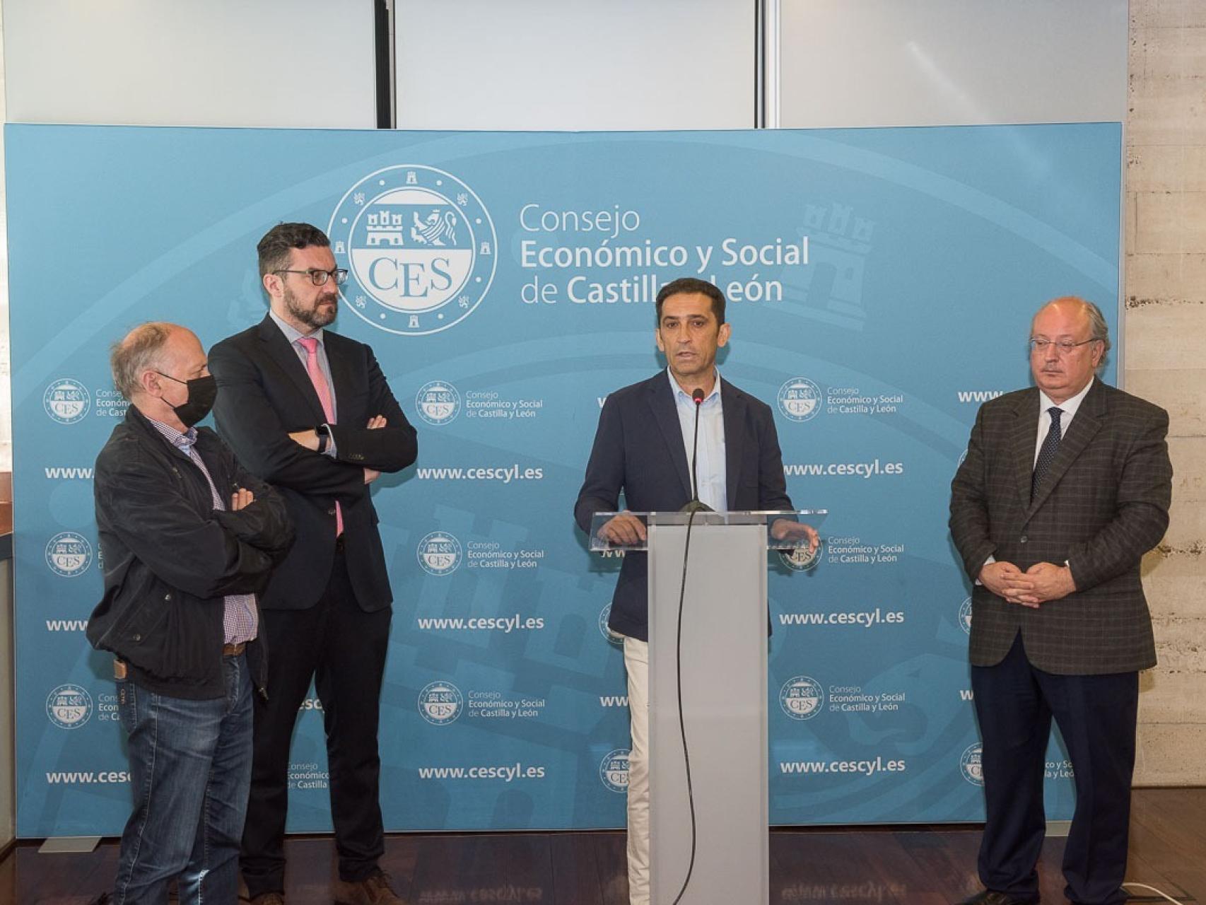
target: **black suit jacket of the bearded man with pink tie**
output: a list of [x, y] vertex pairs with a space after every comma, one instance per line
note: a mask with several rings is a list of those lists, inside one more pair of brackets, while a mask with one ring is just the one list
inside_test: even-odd
[[[276, 486], [297, 527], [288, 557], [273, 573], [260, 605], [305, 609], [327, 586], [335, 554], [335, 501], [343, 507], [347, 571], [365, 611], [393, 601], [364, 468], [397, 472], [415, 461], [415, 428], [402, 413], [373, 350], [323, 332], [338, 425], [338, 459], [312, 453], [288, 433], [323, 424], [326, 415], [310, 375], [271, 317], [223, 339], [210, 350], [217, 378], [213, 420], [218, 433], [250, 472]], [[365, 428], [374, 415], [386, 427]]]

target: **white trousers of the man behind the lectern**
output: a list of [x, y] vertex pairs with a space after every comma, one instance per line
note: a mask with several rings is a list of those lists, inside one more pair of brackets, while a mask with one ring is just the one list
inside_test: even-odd
[[628, 903], [649, 905], [649, 643], [624, 640], [628, 673]]

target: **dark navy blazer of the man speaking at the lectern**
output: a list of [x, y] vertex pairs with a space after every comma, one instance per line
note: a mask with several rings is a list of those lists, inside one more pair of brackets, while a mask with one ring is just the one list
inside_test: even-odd
[[[730, 509], [791, 509], [771, 408], [720, 381], [725, 492]], [[615, 512], [624, 490], [632, 512], [677, 512], [691, 500], [691, 473], [667, 373], [616, 390], [599, 414], [574, 519], [590, 531], [597, 512]], [[649, 640], [649, 560], [628, 553], [611, 600], [614, 631]]]

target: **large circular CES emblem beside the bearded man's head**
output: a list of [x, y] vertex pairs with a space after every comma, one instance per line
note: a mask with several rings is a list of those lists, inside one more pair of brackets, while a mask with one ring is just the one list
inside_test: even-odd
[[450, 173], [404, 164], [371, 173], [327, 229], [352, 280], [344, 302], [379, 329], [426, 335], [473, 314], [494, 279], [497, 237], [481, 199]]

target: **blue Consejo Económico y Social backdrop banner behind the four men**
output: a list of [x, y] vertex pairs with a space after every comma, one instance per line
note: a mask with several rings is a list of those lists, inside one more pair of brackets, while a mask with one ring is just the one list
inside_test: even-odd
[[[978, 404], [1029, 383], [1040, 304], [1081, 294], [1114, 327], [1119, 124], [5, 134], [19, 835], [129, 813], [111, 658], [83, 637], [92, 466], [125, 408], [107, 348], [145, 320], [206, 348], [259, 321], [254, 246], [292, 220], [329, 232], [335, 328], [420, 436], [373, 491], [387, 828], [624, 824], [619, 561], [570, 513], [607, 393], [665, 367], [654, 296], [680, 275], [726, 293], [721, 373], [774, 408], [796, 504], [831, 512], [813, 560], [768, 556], [772, 821], [982, 818], [949, 483]], [[1053, 742], [1053, 818], [1069, 776]], [[291, 830], [329, 829], [327, 783], [311, 695]]]

